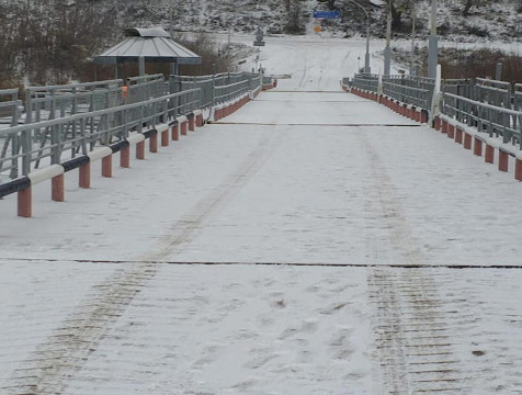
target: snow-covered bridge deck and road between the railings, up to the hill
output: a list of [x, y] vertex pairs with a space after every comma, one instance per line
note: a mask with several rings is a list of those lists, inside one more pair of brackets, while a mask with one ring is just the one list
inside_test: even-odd
[[0, 393], [521, 393], [522, 183], [340, 91], [362, 43], [269, 37], [277, 89], [0, 201]]

